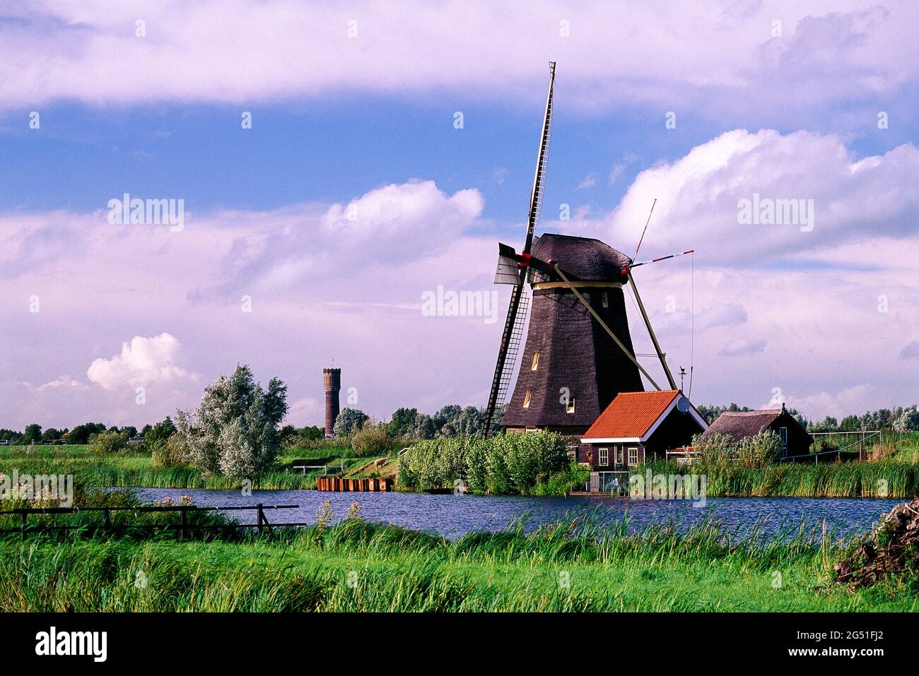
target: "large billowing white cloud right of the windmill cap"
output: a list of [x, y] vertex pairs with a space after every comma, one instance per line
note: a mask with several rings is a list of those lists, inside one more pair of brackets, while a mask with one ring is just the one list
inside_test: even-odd
[[[834, 134], [733, 130], [642, 171], [607, 223], [611, 239], [637, 242], [656, 197], [648, 254], [694, 248], [705, 265], [788, 266], [868, 232], [914, 235], [917, 184], [919, 150], [910, 143], [857, 161]], [[740, 223], [738, 203], [756, 195], [813, 200], [812, 231]], [[863, 256], [862, 265], [872, 263]]]

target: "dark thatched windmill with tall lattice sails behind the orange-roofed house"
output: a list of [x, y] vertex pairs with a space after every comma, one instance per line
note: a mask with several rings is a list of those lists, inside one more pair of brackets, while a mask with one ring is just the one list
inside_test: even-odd
[[551, 62], [524, 248], [518, 254], [513, 247], [498, 244], [495, 283], [513, 288], [486, 408], [486, 436], [513, 376], [530, 305], [526, 283], [533, 289], [533, 309], [505, 427], [582, 434], [619, 392], [644, 389], [640, 374], [654, 389], [661, 389], [641, 366], [631, 344], [623, 292], [629, 283], [670, 389], [677, 389], [631, 275], [633, 267], [673, 256], [635, 263], [634, 256], [596, 239], [551, 233], [533, 237], [549, 157], [554, 81], [555, 63]]

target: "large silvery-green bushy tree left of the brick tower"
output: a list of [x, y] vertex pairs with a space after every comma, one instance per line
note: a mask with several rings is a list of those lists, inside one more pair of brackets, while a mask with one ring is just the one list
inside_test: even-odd
[[263, 389], [249, 366], [236, 366], [204, 389], [193, 413], [176, 412], [177, 434], [206, 475], [251, 478], [274, 462], [287, 411], [284, 383], [273, 377]]

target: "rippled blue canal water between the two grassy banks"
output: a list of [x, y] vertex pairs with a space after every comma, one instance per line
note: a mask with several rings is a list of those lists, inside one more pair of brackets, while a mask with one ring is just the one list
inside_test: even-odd
[[[852, 537], [868, 533], [871, 524], [890, 512], [898, 500], [864, 498], [709, 498], [704, 507], [692, 501], [630, 500], [628, 497], [571, 496], [568, 498], [534, 498], [488, 495], [428, 495], [425, 493], [342, 493], [318, 490], [254, 490], [244, 496], [232, 490], [141, 489], [143, 501], [177, 501], [190, 496], [195, 504], [209, 506], [285, 504], [299, 505], [295, 510], [267, 512], [272, 523], [309, 523], [323, 502], [332, 502], [334, 520], [343, 518], [352, 502], [361, 506], [361, 517], [367, 521], [397, 524], [412, 530], [428, 531], [456, 538], [471, 531], [505, 530], [524, 520], [532, 530], [539, 524], [551, 524], [574, 514], [593, 513], [609, 524], [629, 519], [630, 530], [641, 530], [652, 524], [675, 524], [686, 530], [692, 524], [715, 519], [725, 529], [743, 534], [753, 524], [761, 524], [761, 533], [776, 535], [801, 523], [820, 528], [825, 520], [835, 535]], [[255, 522], [255, 512], [230, 513], [244, 523]]]

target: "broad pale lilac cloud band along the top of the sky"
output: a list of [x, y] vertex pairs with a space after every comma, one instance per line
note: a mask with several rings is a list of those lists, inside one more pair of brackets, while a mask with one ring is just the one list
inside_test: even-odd
[[[560, 13], [549, 1], [367, 0], [346, 10], [289, 0], [14, 3], [0, 28], [0, 101], [236, 104], [434, 90], [536, 101], [551, 54], [559, 88], [574, 106], [639, 102], [800, 116], [839, 99], [889, 99], [915, 82], [915, 12], [909, 4], [888, 5], [597, 1]], [[662, 20], [668, 16], [679, 20]], [[144, 38], [135, 35], [138, 17], [146, 22]], [[560, 17], [570, 22], [570, 38], [560, 34]], [[776, 17], [780, 37], [771, 32]], [[348, 36], [351, 19], [355, 37]], [[661, 58], [661, 45], [678, 58]], [[451, 63], [462, 65], [445, 67]]]

